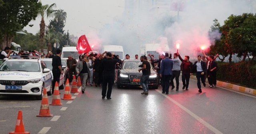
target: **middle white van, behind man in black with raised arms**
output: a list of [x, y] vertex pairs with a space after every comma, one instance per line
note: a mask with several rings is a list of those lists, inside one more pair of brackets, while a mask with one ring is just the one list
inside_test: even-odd
[[102, 53], [105, 51], [107, 52], [114, 52], [115, 55], [119, 55], [120, 60], [124, 60], [124, 49], [123, 46], [116, 46], [116, 45], [106, 45], [102, 47]]

